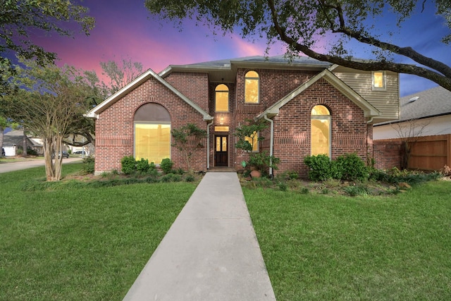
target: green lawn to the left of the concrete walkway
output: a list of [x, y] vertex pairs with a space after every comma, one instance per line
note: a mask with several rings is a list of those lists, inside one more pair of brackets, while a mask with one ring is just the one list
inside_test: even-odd
[[44, 167], [0, 174], [0, 300], [122, 300], [195, 189], [22, 190], [44, 178]]

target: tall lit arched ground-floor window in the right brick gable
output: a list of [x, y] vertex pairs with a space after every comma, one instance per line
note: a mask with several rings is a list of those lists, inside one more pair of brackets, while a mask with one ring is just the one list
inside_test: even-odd
[[311, 109], [311, 155], [330, 157], [330, 112], [326, 106]]

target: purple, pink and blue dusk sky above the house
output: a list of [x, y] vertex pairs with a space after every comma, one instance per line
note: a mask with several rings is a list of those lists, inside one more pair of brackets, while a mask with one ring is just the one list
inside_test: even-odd
[[[207, 28], [197, 27], [194, 23], [185, 23], [180, 32], [172, 23], [163, 23], [152, 16], [144, 7], [143, 0], [96, 0], [82, 1], [81, 4], [89, 7], [90, 16], [96, 19], [94, 30], [88, 37], [78, 32], [73, 38], [56, 34], [32, 37], [33, 42], [58, 54], [58, 65], [67, 63], [84, 70], [96, 70], [100, 75], [99, 62], [132, 59], [141, 62], [143, 70], [152, 68], [158, 73], [169, 65], [263, 56], [266, 49], [266, 40], [252, 43], [242, 39], [238, 32], [236, 35], [213, 37]], [[451, 47], [440, 42], [440, 38], [450, 30], [441, 17], [431, 13], [433, 9], [429, 6], [424, 13], [417, 13], [403, 25], [394, 40], [400, 46], [410, 46], [421, 54], [451, 65]], [[381, 25], [389, 26], [386, 25], [388, 21], [381, 21]], [[276, 44], [271, 47], [269, 55], [284, 52], [283, 45]], [[368, 54], [359, 50], [355, 55], [368, 58]], [[436, 85], [412, 75], [401, 75], [400, 84], [401, 96]]]

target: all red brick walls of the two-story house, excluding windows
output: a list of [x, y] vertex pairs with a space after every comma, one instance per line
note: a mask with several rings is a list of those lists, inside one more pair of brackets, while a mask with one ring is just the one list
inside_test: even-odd
[[[215, 135], [228, 135], [229, 166], [239, 170], [241, 162], [248, 159], [249, 154], [235, 148], [237, 141], [235, 128], [246, 119], [252, 119], [268, 106], [277, 102], [286, 94], [306, 82], [316, 72], [299, 70], [254, 69], [260, 77], [259, 104], [245, 104], [245, 73], [249, 69], [238, 68], [235, 83], [227, 82], [229, 87], [229, 112], [214, 111], [215, 87], [221, 82], [209, 82], [206, 73], [175, 72], [165, 78], [173, 87], [202, 107], [211, 116], [214, 123], [210, 126], [209, 166], [214, 166]], [[180, 97], [164, 87], [154, 78], [150, 78], [135, 90], [118, 99], [108, 109], [100, 113], [96, 121], [96, 173], [121, 170], [123, 156], [133, 154], [135, 111], [142, 105], [155, 102], [164, 106], [171, 115], [171, 128], [179, 128], [187, 123], [196, 123], [206, 130], [207, 123], [202, 115], [183, 102]], [[292, 99], [280, 109], [274, 121], [274, 155], [280, 158], [278, 171], [297, 171], [300, 176], [307, 176], [304, 156], [310, 154], [310, 120], [311, 109], [317, 105], [326, 106], [332, 119], [332, 157], [357, 152], [366, 160], [367, 153], [373, 149], [372, 126], [366, 124], [364, 112], [350, 99], [330, 85], [326, 80], [319, 80], [307, 90]], [[222, 120], [221, 120], [222, 119]], [[223, 124], [221, 124], [223, 123]], [[229, 127], [228, 133], [215, 133], [214, 126]], [[260, 133], [265, 137], [260, 142], [260, 151], [269, 152], [270, 130]], [[197, 145], [198, 142], [193, 145]], [[202, 147], [192, 149], [192, 167], [197, 171], [206, 170], [206, 138], [200, 142]], [[187, 165], [175, 147], [171, 148], [171, 159], [174, 168], [186, 169]], [[376, 160], [377, 161], [377, 160]]]

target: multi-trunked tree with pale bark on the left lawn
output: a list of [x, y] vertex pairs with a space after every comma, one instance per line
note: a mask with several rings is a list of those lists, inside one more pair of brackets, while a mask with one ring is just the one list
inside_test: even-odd
[[[21, 87], [1, 99], [6, 116], [42, 138], [47, 180], [61, 178], [63, 139], [80, 131], [90, 106], [92, 90], [80, 70], [52, 63], [39, 66], [35, 60], [20, 61], [13, 81]], [[89, 127], [89, 124], [87, 125]], [[91, 132], [92, 133], [92, 132]]]

